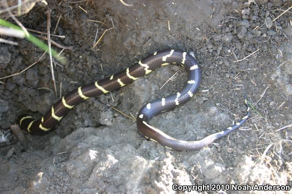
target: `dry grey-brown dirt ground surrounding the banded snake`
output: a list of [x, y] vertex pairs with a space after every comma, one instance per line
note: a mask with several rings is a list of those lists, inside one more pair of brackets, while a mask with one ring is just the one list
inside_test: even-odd
[[[54, 66], [57, 98], [48, 55], [24, 73], [0, 80], [0, 193], [181, 193], [173, 184], [210, 186], [185, 193], [291, 192], [231, 188], [292, 186], [292, 10], [282, 14], [289, 1], [47, 3], [51, 33], [64, 36], [52, 40], [72, 49], [62, 52], [66, 64]], [[46, 32], [47, 11], [37, 3], [18, 19]], [[93, 47], [96, 33], [97, 39], [104, 36]], [[2, 38], [19, 45], [0, 43], [0, 78], [43, 54], [26, 40]], [[202, 81], [186, 105], [156, 116], [154, 126], [181, 140], [202, 139], [245, 114], [243, 96], [254, 106], [248, 121], [193, 152], [172, 151], [141, 137], [135, 122], [114, 108], [136, 117], [150, 100], [182, 89], [186, 73], [174, 65], [76, 106], [50, 134], [25, 134], [27, 145], [6, 137], [21, 113], [39, 118], [59, 96], [169, 48], [193, 52]]]

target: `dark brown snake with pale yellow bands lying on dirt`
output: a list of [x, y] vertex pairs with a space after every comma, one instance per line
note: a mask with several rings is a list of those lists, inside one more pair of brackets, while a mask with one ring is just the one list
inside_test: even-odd
[[138, 133], [144, 138], [161, 144], [164, 147], [172, 150], [193, 151], [199, 150], [213, 143], [214, 141], [230, 134], [240, 127], [250, 115], [250, 106], [247, 99], [244, 97], [247, 111], [244, 117], [232, 126], [225, 130], [211, 134], [198, 141], [184, 141], [175, 139], [157, 127], [150, 124], [150, 120], [164, 111], [168, 111], [178, 107], [190, 100], [199, 87], [201, 81], [201, 69], [194, 56], [187, 52], [166, 49], [139, 60], [133, 66], [126, 70], [109, 76], [103, 80], [94, 83], [80, 86], [79, 88], [69, 92], [67, 95], [60, 98], [41, 118], [35, 120], [28, 114], [19, 116], [18, 123], [22, 130], [29, 132], [32, 135], [45, 135], [55, 128], [55, 125], [76, 105], [81, 102], [110, 91], [119, 89], [139, 77], [143, 77], [155, 69], [167, 66], [168, 64], [179, 64], [184, 67], [188, 75], [188, 81], [184, 88], [167, 97], [159, 98], [145, 104], [138, 112], [136, 124]]

